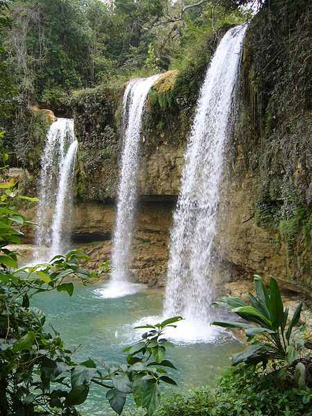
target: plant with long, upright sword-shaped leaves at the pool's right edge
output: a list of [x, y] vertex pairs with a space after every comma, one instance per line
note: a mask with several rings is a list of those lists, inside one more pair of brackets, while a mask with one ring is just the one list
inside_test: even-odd
[[227, 306], [242, 320], [235, 322], [212, 322], [225, 328], [241, 328], [245, 330], [248, 341], [252, 343], [247, 349], [233, 356], [233, 365], [246, 363], [266, 367], [268, 361], [273, 366], [277, 362], [294, 363], [300, 358], [304, 349], [302, 333], [304, 327], [297, 328], [300, 323], [302, 302], [300, 302], [288, 322], [288, 308], [284, 308], [277, 281], [270, 279], [269, 288], [260, 276], [254, 277], [254, 287], [257, 297], [248, 294], [250, 304], [239, 297], [221, 297], [213, 302], [214, 305]]

